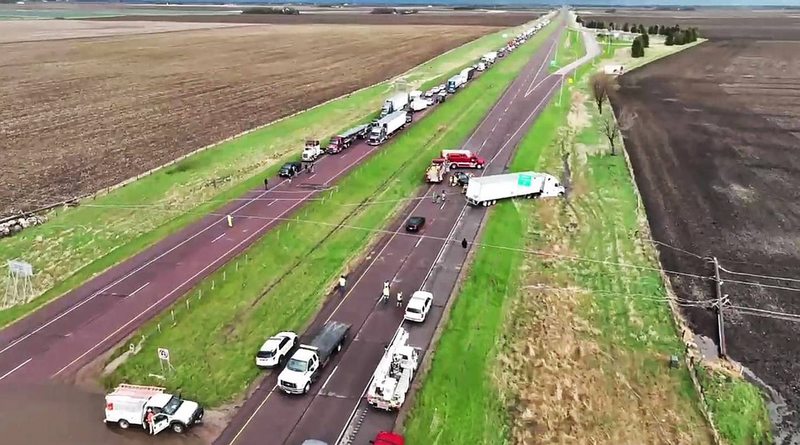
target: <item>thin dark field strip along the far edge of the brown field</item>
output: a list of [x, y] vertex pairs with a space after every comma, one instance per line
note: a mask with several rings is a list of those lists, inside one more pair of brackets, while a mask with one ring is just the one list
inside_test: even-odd
[[474, 25], [511, 27], [534, 20], [540, 14], [531, 12], [508, 12], [488, 14], [484, 12], [431, 12], [407, 15], [369, 14], [368, 12], [319, 12], [300, 15], [236, 14], [236, 15], [125, 15], [121, 17], [97, 17], [98, 21], [165, 21], [192, 23], [265, 23], [275, 25]]

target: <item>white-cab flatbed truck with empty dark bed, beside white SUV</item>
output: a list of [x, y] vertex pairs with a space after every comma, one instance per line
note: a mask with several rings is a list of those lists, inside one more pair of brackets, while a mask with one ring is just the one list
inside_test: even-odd
[[287, 394], [306, 394], [330, 362], [334, 354], [342, 350], [350, 332], [350, 325], [329, 321], [307, 345], [292, 354], [286, 367], [278, 375], [278, 386]]

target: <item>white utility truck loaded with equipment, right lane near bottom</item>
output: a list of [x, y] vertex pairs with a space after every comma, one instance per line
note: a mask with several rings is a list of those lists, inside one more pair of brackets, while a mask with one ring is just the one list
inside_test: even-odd
[[419, 351], [408, 345], [408, 331], [398, 329], [372, 375], [367, 402], [386, 411], [403, 406], [418, 364]]

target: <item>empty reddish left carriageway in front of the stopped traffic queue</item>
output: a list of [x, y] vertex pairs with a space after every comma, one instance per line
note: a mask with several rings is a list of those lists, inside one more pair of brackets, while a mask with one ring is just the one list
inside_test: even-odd
[[250, 190], [3, 329], [0, 386], [70, 379], [380, 149], [359, 142], [291, 181], [269, 178], [269, 190]]

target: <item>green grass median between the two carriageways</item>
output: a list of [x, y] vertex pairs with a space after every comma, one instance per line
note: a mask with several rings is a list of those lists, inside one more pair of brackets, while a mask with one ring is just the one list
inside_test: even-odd
[[264, 338], [279, 330], [301, 330], [334, 278], [373, 239], [369, 230], [337, 226], [384, 227], [402, 208], [402, 200], [418, 190], [429, 160], [466, 139], [546, 34], [540, 33], [382, 148], [340, 181], [324, 202], [306, 206], [299, 221], [270, 231], [206, 279], [187, 296], [188, 309], [187, 300], [176, 303], [174, 326], [169, 314], [145, 326], [133, 337], [146, 336], [143, 349], [108, 376], [106, 384], [149, 382], [148, 374], [159, 370], [156, 348], [168, 347], [177, 368], [166, 382], [171, 389], [209, 406], [241, 394], [260, 375], [252, 356]]

